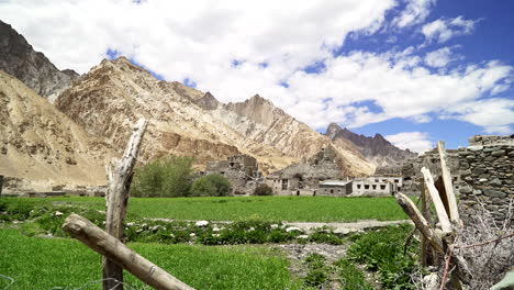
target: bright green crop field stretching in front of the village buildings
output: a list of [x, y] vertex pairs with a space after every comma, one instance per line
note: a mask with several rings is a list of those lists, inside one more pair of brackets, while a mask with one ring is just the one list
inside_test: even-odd
[[[104, 210], [103, 198], [31, 199], [32, 202], [67, 202]], [[230, 197], [131, 198], [128, 215], [174, 220], [354, 222], [393, 221], [407, 216], [394, 198]]]

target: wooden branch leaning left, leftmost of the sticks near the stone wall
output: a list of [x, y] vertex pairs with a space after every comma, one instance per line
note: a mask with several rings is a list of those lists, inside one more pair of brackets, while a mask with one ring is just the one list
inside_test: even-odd
[[428, 222], [423, 217], [420, 210], [417, 210], [416, 205], [410, 198], [407, 198], [403, 193], [396, 194], [396, 202], [402, 207], [403, 211], [411, 217], [414, 222], [416, 227], [423, 234], [423, 236], [431, 243], [432, 247], [434, 247], [440, 254], [445, 254], [443, 248], [443, 242], [440, 237], [435, 233]]

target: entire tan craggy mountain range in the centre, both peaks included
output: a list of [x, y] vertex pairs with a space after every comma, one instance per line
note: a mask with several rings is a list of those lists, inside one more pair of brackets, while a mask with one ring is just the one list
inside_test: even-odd
[[[331, 143], [258, 96], [223, 104], [210, 92], [157, 80], [125, 57], [92, 68], [58, 98], [56, 107], [115, 148], [123, 148], [128, 124], [148, 119], [143, 159], [176, 154], [205, 164], [243, 153], [271, 172]], [[375, 170], [353, 145], [351, 150], [337, 148], [349, 174]]]

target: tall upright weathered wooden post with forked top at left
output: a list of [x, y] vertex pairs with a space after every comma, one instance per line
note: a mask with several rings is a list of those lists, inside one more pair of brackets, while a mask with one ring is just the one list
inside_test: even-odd
[[[141, 142], [143, 141], [147, 123], [145, 119], [139, 119], [139, 121], [137, 121], [125, 148], [125, 153], [123, 154], [123, 158], [121, 160], [113, 159], [107, 168], [109, 187], [105, 194], [105, 231], [118, 239], [123, 238], [123, 223], [128, 204], [132, 170], [134, 169], [137, 154], [139, 153]], [[123, 290], [123, 285], [113, 280], [115, 279], [123, 282], [123, 267], [109, 258], [104, 258], [103, 279], [104, 290]]]

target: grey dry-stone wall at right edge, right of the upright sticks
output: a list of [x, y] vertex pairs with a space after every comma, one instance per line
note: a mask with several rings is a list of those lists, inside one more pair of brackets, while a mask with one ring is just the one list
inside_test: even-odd
[[460, 189], [462, 217], [467, 220], [480, 210], [479, 200], [502, 222], [514, 199], [514, 135], [473, 136], [469, 144], [458, 154], [460, 177], [466, 183]]

